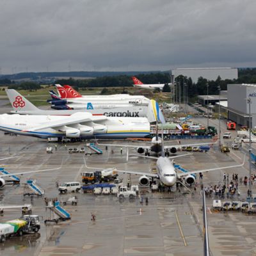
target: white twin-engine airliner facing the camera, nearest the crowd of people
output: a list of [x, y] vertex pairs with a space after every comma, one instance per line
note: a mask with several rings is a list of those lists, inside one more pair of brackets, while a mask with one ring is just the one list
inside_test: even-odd
[[[186, 154], [186, 155], [189, 155], [189, 154]], [[223, 166], [223, 167], [219, 167], [219, 168], [209, 168], [209, 169], [196, 170], [196, 171], [191, 171], [191, 172], [180, 172], [180, 171], [178, 172], [175, 169], [173, 161], [170, 160], [170, 158], [182, 157], [182, 156], [186, 156], [186, 155], [174, 156], [174, 157], [164, 157], [164, 156], [148, 157], [147, 156], [147, 158], [157, 159], [157, 161], [156, 161], [157, 173], [145, 173], [145, 172], [126, 171], [126, 170], [116, 170], [116, 172], [141, 175], [141, 177], [139, 179], [139, 183], [141, 186], [148, 186], [148, 184], [150, 184], [150, 179], [153, 178], [153, 179], [159, 179], [159, 181], [164, 186], [172, 187], [177, 182], [180, 182], [180, 184], [184, 185], [184, 183], [182, 182], [183, 177], [185, 178], [186, 185], [193, 185], [195, 183], [195, 179], [196, 179], [195, 174], [196, 173], [211, 172], [211, 171], [216, 171], [216, 170], [241, 167], [244, 165], [244, 161], [245, 161], [245, 155], [244, 155], [243, 164], [237, 164], [237, 165], [232, 165], [232, 166]], [[142, 156], [142, 157], [146, 157], [146, 156]]]

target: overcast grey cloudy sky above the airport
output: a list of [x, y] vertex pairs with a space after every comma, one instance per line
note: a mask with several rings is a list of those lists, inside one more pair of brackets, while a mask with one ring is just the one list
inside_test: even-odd
[[255, 0], [1, 0], [1, 74], [256, 67]]

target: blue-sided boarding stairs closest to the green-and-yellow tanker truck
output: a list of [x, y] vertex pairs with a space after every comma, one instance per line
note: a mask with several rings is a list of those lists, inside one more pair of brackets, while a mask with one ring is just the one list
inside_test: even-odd
[[[67, 212], [63, 207], [60, 205], [60, 201], [56, 200], [49, 200], [47, 202], [47, 208], [50, 209], [50, 219], [45, 220], [47, 221], [54, 221], [58, 223], [59, 220], [65, 221], [65, 220], [70, 220], [71, 214]], [[52, 215], [52, 214], [53, 215]]]

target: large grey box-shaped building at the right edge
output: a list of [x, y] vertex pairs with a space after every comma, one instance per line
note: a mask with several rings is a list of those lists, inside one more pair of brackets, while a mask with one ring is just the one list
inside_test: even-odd
[[228, 84], [228, 119], [249, 127], [251, 104], [252, 128], [256, 126], [256, 84]]

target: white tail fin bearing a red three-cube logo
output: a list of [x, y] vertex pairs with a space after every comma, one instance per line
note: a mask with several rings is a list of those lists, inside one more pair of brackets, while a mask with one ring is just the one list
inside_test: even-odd
[[12, 104], [12, 108], [15, 111], [20, 110], [39, 110], [36, 108], [34, 104], [32, 104], [29, 100], [27, 100], [24, 96], [20, 95], [19, 92], [17, 92], [14, 89], [6, 89], [7, 96]]

